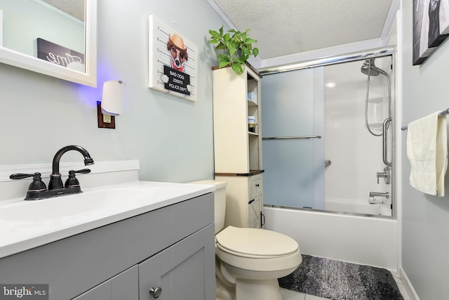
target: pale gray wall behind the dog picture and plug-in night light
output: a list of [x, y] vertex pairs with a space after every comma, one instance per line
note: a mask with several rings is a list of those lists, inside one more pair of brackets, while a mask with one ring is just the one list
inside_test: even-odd
[[[74, 144], [98, 161], [140, 159], [141, 180], [213, 178], [216, 60], [207, 39], [223, 21], [205, 0], [132, 2], [98, 0], [97, 89], [0, 64], [0, 165], [51, 163], [58, 149]], [[147, 87], [149, 15], [199, 47], [197, 102]], [[126, 83], [123, 115], [116, 129], [99, 129], [102, 84], [117, 79]], [[81, 156], [69, 152], [61, 162]]]

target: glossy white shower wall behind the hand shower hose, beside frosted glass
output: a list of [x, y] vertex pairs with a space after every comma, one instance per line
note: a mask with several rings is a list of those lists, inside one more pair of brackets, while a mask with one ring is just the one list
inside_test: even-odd
[[[390, 57], [377, 58], [375, 64], [391, 74]], [[326, 168], [326, 199], [368, 200], [369, 192], [391, 194], [391, 185], [382, 178], [377, 184], [376, 172], [384, 169], [382, 136], [371, 135], [365, 126], [368, 76], [361, 72], [362, 65], [363, 60], [324, 67], [325, 84], [335, 83], [324, 91], [325, 157], [332, 162]], [[380, 125], [388, 115], [387, 79], [382, 74], [370, 77], [369, 98], [368, 122], [372, 131], [382, 133]]]

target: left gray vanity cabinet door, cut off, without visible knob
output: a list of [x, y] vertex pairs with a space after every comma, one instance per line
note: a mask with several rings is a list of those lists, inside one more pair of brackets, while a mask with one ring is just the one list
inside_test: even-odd
[[139, 300], [138, 276], [138, 266], [133, 266], [73, 300]]

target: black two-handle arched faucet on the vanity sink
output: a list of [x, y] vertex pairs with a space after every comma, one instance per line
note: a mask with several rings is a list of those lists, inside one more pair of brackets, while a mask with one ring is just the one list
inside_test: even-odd
[[76, 179], [75, 174], [87, 174], [90, 173], [90, 169], [82, 169], [79, 171], [70, 170], [69, 178], [65, 181], [65, 185], [62, 185], [61, 174], [59, 173], [59, 162], [62, 155], [69, 151], [76, 150], [81, 153], [84, 157], [84, 165], [88, 166], [94, 164], [91, 155], [87, 152], [86, 149], [76, 146], [69, 145], [61, 148], [56, 152], [55, 157], [53, 157], [53, 170], [50, 175], [50, 183], [48, 183], [48, 190], [46, 188], [45, 183], [41, 180], [41, 174], [36, 172], [34, 174], [12, 174], [9, 176], [11, 179], [23, 179], [27, 177], [33, 177], [32, 183], [29, 185], [27, 196], [25, 200], [39, 200], [46, 199], [51, 197], [58, 197], [62, 195], [76, 194], [82, 193], [81, 187], [79, 186], [79, 181]]

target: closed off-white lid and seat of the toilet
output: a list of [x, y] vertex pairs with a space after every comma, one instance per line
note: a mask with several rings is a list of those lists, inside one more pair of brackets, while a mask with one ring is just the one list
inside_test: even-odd
[[228, 226], [215, 235], [217, 246], [243, 256], [285, 256], [297, 251], [293, 238], [271, 230]]

